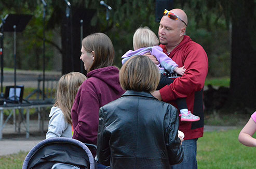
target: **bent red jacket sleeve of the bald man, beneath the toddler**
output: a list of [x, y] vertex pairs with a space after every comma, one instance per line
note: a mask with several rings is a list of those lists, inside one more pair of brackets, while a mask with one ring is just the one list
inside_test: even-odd
[[196, 43], [186, 50], [182, 59], [183, 65], [186, 65], [186, 73], [159, 90], [165, 102], [186, 98], [204, 87], [208, 72], [208, 59], [204, 49]]

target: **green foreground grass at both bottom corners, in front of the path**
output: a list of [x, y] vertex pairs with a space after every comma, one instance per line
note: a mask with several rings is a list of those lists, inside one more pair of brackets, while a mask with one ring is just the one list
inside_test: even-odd
[[[199, 169], [256, 168], [255, 148], [238, 142], [240, 129], [205, 132], [197, 142]], [[28, 152], [0, 157], [0, 169], [22, 168]]]

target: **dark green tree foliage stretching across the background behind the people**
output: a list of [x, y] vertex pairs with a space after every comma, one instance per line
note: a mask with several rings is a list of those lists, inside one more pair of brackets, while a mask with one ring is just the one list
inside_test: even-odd
[[[83, 7], [96, 9], [91, 20], [92, 32], [106, 33], [112, 40], [116, 51], [115, 65], [120, 67], [121, 56], [132, 49], [132, 36], [140, 26], [150, 27], [158, 33], [158, 23], [155, 22], [155, 1], [116, 0], [105, 1], [113, 10], [110, 20], [106, 21], [106, 9], [97, 1], [70, 1], [72, 8]], [[14, 5], [15, 4], [15, 5]], [[54, 38], [60, 36], [60, 25], [65, 14], [65, 2], [47, 1], [46, 14], [46, 69], [52, 69], [53, 51], [62, 49], [54, 43]], [[2, 5], [2, 8], [1, 8]], [[229, 33], [229, 4], [227, 1], [175, 1], [174, 8], [182, 8], [188, 16], [187, 35], [201, 44], [208, 54], [209, 75], [230, 75], [230, 33]], [[41, 1], [2, 1], [1, 17], [7, 13], [31, 13], [33, 19], [18, 35], [17, 62], [20, 69], [42, 69], [43, 65], [43, 5]], [[57, 29], [53, 32], [53, 30]], [[53, 43], [49, 43], [53, 42]], [[75, 42], [78, 43], [78, 42]], [[80, 42], [79, 42], [80, 43]], [[54, 46], [52, 44], [55, 44]], [[13, 67], [12, 34], [5, 38], [5, 65]]]

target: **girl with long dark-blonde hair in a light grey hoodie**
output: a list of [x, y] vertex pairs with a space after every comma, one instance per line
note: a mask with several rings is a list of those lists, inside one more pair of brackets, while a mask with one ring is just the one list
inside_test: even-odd
[[46, 139], [51, 137], [72, 138], [71, 109], [79, 86], [86, 80], [79, 72], [62, 75], [56, 91], [56, 102], [51, 107]]

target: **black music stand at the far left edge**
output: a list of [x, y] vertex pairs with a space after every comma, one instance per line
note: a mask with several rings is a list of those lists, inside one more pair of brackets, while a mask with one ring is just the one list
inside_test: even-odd
[[[3, 19], [2, 24], [0, 24], [0, 29], [3, 30], [2, 34], [4, 32], [14, 32], [14, 96], [15, 101], [17, 101], [16, 98], [16, 33], [22, 32], [26, 25], [31, 20], [32, 15], [31, 14], [6, 14], [5, 18]], [[3, 56], [3, 47], [2, 48], [2, 56]], [[3, 62], [3, 61], [2, 61]], [[3, 63], [1, 63], [1, 66], [3, 67]], [[1, 69], [1, 75], [3, 76], [3, 69]], [[3, 77], [1, 77], [1, 89], [3, 88], [2, 83]]]

